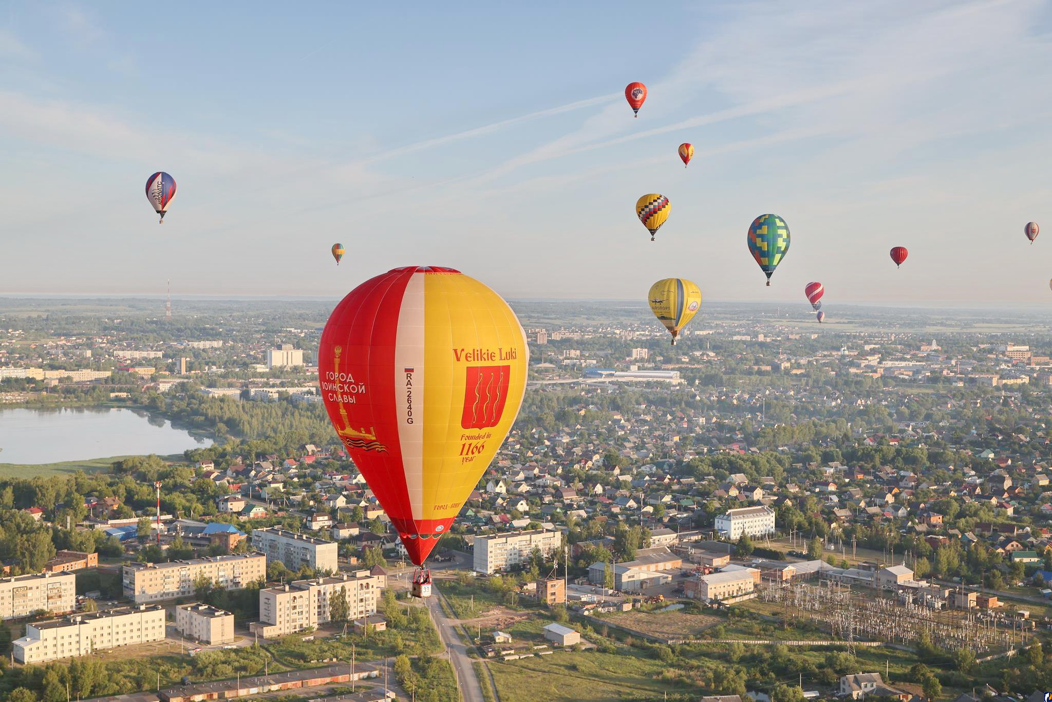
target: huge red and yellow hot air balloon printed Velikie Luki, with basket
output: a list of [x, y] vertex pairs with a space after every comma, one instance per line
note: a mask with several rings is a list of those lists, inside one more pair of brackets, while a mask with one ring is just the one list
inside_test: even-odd
[[[377, 276], [325, 324], [318, 349], [325, 408], [418, 566], [507, 437], [528, 355], [511, 307], [452, 268]], [[426, 570], [413, 579], [419, 595], [418, 582], [429, 585]]]

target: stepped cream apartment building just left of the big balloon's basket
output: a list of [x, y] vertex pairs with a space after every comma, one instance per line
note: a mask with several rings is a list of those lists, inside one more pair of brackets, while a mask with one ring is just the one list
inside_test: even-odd
[[331, 602], [341, 590], [347, 598], [348, 619], [375, 615], [382, 578], [368, 570], [357, 570], [261, 589], [260, 621], [252, 622], [248, 628], [264, 639], [272, 639], [324, 624], [331, 621]]

